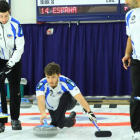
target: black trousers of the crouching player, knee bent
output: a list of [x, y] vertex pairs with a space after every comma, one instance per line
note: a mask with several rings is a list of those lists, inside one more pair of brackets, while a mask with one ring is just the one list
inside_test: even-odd
[[58, 108], [55, 111], [49, 110], [52, 122], [51, 124], [59, 128], [72, 127], [73, 120], [71, 117], [65, 117], [67, 110], [73, 109], [77, 101], [70, 95], [69, 92], [65, 92], [60, 98]]

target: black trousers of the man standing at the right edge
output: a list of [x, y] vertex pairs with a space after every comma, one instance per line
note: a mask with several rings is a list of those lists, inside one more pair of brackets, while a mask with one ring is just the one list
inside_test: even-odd
[[134, 97], [140, 97], [140, 61], [131, 60], [131, 83], [132, 93], [130, 101], [130, 120], [134, 132], [140, 131], [140, 101]]

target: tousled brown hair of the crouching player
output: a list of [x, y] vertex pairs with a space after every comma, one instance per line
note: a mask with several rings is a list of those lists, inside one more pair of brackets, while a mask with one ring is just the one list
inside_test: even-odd
[[44, 69], [45, 75], [52, 76], [54, 74], [60, 74], [60, 66], [54, 62], [49, 63]]

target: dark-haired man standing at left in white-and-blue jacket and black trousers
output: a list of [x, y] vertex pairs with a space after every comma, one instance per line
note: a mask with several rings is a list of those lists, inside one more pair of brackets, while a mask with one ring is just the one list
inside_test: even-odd
[[[4, 81], [8, 78], [10, 87], [10, 114], [13, 130], [21, 130], [20, 114], [21, 56], [24, 51], [22, 27], [10, 16], [10, 6], [0, 1], [0, 90], [2, 112], [7, 113]], [[0, 132], [4, 132], [7, 118], [0, 119]]]

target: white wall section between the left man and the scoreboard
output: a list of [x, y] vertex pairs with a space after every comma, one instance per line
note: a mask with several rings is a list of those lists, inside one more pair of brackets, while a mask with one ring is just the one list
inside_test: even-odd
[[36, 0], [11, 0], [11, 15], [21, 24], [36, 23]]

